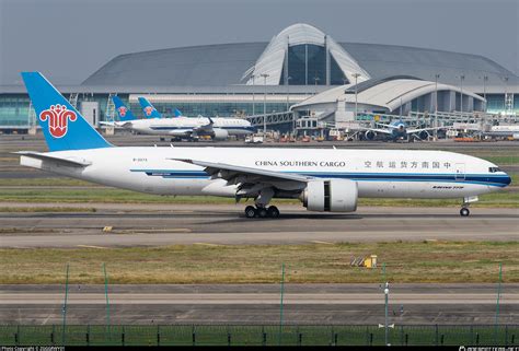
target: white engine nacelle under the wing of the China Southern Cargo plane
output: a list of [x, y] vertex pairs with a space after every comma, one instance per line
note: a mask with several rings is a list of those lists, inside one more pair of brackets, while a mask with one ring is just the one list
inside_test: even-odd
[[312, 180], [302, 192], [307, 210], [318, 212], [354, 212], [357, 199], [357, 182], [348, 179]]

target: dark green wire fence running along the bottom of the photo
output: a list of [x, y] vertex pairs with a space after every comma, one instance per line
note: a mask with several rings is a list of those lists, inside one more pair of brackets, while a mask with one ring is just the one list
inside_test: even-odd
[[[519, 325], [402, 325], [393, 346], [519, 346]], [[380, 326], [0, 326], [0, 346], [383, 346]]]

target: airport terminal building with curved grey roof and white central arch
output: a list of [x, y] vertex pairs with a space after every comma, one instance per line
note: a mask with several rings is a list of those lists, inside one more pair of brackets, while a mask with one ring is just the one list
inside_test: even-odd
[[[394, 45], [338, 43], [308, 24], [269, 42], [124, 54], [81, 84], [57, 85], [93, 124], [114, 118], [113, 95], [142, 113], [147, 96], [163, 115], [305, 115], [357, 112], [519, 115], [519, 78], [477, 55]], [[348, 115], [349, 114], [349, 115]], [[0, 86], [0, 128], [27, 130], [35, 116], [23, 85]]]

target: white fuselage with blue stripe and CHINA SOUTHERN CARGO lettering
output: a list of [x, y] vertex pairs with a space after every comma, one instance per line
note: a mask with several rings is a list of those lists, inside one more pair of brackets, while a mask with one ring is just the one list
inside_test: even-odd
[[[106, 148], [48, 153], [91, 165], [64, 166], [22, 156], [26, 166], [107, 186], [158, 195], [234, 197], [237, 185], [171, 159], [357, 182], [371, 198], [464, 198], [494, 191], [509, 176], [485, 160], [442, 151], [276, 148]], [[494, 171], [492, 171], [494, 168]]]

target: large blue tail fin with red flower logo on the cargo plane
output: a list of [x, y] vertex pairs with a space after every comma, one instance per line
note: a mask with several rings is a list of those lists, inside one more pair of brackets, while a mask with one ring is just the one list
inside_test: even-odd
[[50, 151], [112, 147], [39, 72], [22, 72]]

